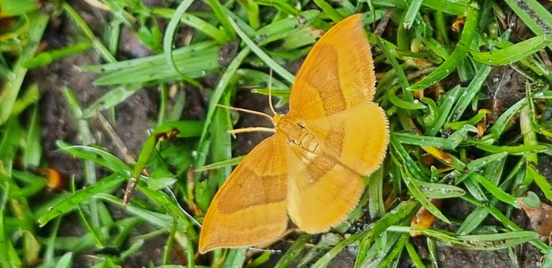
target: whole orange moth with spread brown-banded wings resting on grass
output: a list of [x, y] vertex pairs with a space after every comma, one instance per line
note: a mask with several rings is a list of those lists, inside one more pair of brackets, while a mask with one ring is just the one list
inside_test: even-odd
[[297, 72], [288, 114], [262, 114], [273, 121], [274, 135], [213, 198], [201, 253], [266, 245], [284, 234], [289, 218], [311, 234], [346, 219], [364, 190], [362, 176], [380, 167], [388, 145], [387, 118], [373, 102], [373, 68], [360, 14], [317, 41]]

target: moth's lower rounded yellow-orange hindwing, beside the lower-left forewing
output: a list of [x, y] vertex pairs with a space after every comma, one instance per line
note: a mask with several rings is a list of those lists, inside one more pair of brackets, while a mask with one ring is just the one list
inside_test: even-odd
[[364, 190], [361, 176], [333, 158], [288, 149], [288, 214], [311, 234], [339, 225], [355, 208]]

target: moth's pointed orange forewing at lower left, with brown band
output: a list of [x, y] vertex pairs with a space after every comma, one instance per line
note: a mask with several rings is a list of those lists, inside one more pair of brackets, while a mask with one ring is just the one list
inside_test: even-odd
[[272, 242], [287, 228], [287, 160], [284, 136], [259, 143], [242, 160], [210, 204], [199, 251]]

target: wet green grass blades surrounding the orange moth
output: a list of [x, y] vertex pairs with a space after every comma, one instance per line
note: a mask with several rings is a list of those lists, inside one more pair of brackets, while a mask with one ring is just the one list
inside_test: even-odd
[[[198, 8], [193, 0], [164, 6], [90, 0], [92, 8], [110, 14], [103, 38], [72, 3], [1, 3], [7, 21], [0, 26], [1, 266], [72, 267], [77, 256], [87, 256], [93, 267], [115, 267], [159, 238], [166, 241], [162, 258], [150, 260], [150, 267], [326, 267], [346, 247], [356, 249], [357, 267], [434, 267], [437, 246], [444, 245], [508, 249], [517, 267], [515, 247], [524, 243], [545, 255], [543, 267], [549, 265], [547, 243], [531, 227], [518, 226], [512, 212], [520, 209], [520, 196], [529, 196], [526, 203], [552, 201], [551, 178], [538, 168], [550, 165], [540, 156], [552, 155], [552, 14], [536, 0], [499, 2], [206, 0]], [[227, 133], [238, 114], [217, 105], [233, 105], [239, 90], [266, 96], [270, 80], [284, 105], [295, 79], [287, 63], [302, 59], [324, 30], [356, 12], [365, 14], [379, 78], [376, 101], [392, 131], [386, 161], [366, 178], [357, 209], [327, 234], [289, 236], [282, 254], [228, 249], [199, 256], [199, 223], [243, 158], [233, 155], [236, 144]], [[70, 19], [79, 41], [37, 51], [48, 20], [57, 16]], [[526, 39], [514, 41], [512, 18], [529, 29]], [[117, 61], [121, 28], [155, 54]], [[235, 41], [235, 53], [221, 52]], [[83, 167], [77, 174], [83, 181], [63, 184], [43, 156], [39, 90], [26, 81], [26, 72], [86, 50], [97, 52], [103, 64], [79, 68], [97, 74], [95, 83], [109, 90], [83, 107], [70, 88], [63, 89], [79, 143], [57, 146]], [[491, 107], [505, 105], [496, 93], [502, 81], [490, 79], [498, 65], [525, 79], [522, 96], [504, 110]], [[213, 77], [217, 82], [210, 87]], [[158, 88], [155, 127], [137, 158], [117, 158], [97, 144], [90, 120], [108, 125], [115, 107], [144, 87]], [[179, 92], [169, 94], [172, 87]], [[202, 120], [183, 118], [184, 87], [201, 87], [208, 95]], [[475, 208], [455, 218], [435, 201], [447, 198]], [[115, 208], [124, 216], [115, 217]], [[411, 225], [420, 209], [429, 215], [424, 227]], [[77, 217], [81, 236], [60, 234], [69, 216]], [[449, 230], [431, 227], [434, 218]], [[411, 232], [426, 236], [426, 245], [413, 243]], [[420, 255], [419, 247], [429, 254]]]

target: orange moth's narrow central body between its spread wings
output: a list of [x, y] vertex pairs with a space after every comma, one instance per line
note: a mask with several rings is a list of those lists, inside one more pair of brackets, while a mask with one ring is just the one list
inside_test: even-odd
[[306, 127], [297, 121], [289, 120], [286, 116], [278, 118], [276, 130], [288, 138], [288, 143], [302, 147], [307, 152], [318, 152], [319, 143], [315, 136]]

